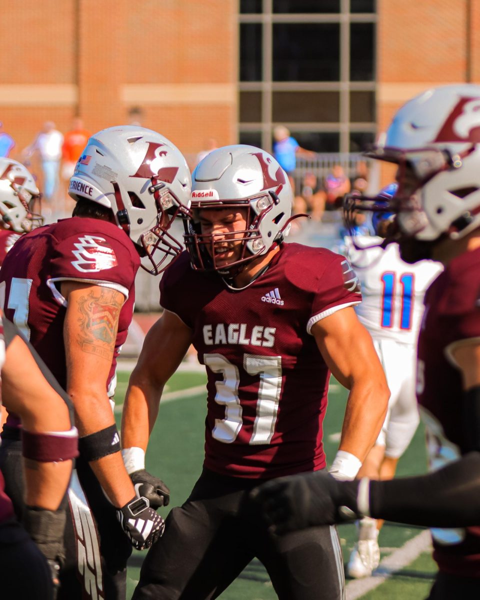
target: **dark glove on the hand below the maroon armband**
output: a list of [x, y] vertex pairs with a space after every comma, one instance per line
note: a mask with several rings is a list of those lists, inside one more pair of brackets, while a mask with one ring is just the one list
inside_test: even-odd
[[58, 590], [59, 571], [65, 561], [64, 529], [67, 514], [64, 509], [47, 511], [44, 508], [26, 506], [23, 525], [41, 553], [49, 563], [52, 572], [54, 598]]

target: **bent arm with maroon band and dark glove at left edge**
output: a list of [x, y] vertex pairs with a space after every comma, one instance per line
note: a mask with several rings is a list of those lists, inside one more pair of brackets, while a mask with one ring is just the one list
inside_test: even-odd
[[[8, 331], [10, 329], [10, 331]], [[26, 529], [52, 568], [64, 556], [65, 493], [77, 456], [78, 436], [65, 392], [35, 350], [4, 319], [7, 351], [2, 367], [2, 401], [22, 419]]]

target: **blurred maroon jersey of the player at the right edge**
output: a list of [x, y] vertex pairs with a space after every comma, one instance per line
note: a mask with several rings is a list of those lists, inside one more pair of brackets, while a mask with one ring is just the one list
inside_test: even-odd
[[[480, 336], [480, 250], [461, 254], [431, 284], [418, 341], [417, 394], [432, 469], [463, 454], [460, 371], [449, 350]], [[440, 571], [480, 577], [480, 527], [432, 529]]]

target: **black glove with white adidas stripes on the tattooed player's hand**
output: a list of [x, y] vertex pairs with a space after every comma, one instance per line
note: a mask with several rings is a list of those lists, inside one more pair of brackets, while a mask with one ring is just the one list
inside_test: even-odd
[[118, 508], [116, 515], [136, 550], [151, 547], [163, 535], [165, 522], [150, 508], [146, 498], [135, 496], [125, 506]]

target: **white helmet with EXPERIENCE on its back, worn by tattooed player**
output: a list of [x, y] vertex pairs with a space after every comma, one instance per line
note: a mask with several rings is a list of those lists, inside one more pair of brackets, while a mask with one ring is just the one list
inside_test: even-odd
[[[95, 133], [77, 161], [68, 193], [112, 209], [151, 274], [164, 271], [182, 251], [171, 232], [188, 214], [191, 176], [178, 148], [156, 131], [122, 125]], [[154, 257], [154, 254], [157, 256]]]

